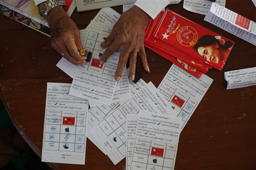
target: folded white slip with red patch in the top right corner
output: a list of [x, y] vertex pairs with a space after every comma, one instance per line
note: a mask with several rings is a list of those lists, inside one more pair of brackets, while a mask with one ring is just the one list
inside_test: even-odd
[[[219, 15], [219, 13], [221, 13], [221, 15]], [[233, 20], [230, 21], [227, 17], [228, 15], [230, 15]], [[227, 8], [220, 7], [217, 4], [212, 3], [210, 10], [204, 17], [204, 20], [253, 45], [256, 45], [255, 22]], [[251, 29], [252, 25], [254, 25], [254, 29]]]

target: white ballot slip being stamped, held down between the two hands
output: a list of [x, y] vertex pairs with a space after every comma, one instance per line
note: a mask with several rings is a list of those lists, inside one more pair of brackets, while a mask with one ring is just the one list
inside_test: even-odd
[[[123, 88], [116, 90], [117, 82], [114, 80], [114, 74], [120, 51], [115, 51], [105, 63], [99, 63], [99, 58], [105, 50], [105, 48], [101, 48], [100, 43], [110, 32], [111, 29], [105, 30], [96, 25], [89, 28], [85, 48], [92, 52], [92, 57], [90, 62], [77, 67], [69, 92], [71, 95], [103, 105], [131, 98], [126, 68], [123, 69], [120, 80], [120, 85], [124, 84], [126, 91]], [[114, 98], [115, 101], [112, 101], [115, 91], [117, 95]], [[120, 99], [121, 97], [123, 99]]]

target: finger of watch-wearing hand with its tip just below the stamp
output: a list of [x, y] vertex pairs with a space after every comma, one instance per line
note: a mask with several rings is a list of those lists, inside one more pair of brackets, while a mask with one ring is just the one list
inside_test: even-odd
[[77, 61], [83, 61], [85, 60], [84, 57], [82, 57], [78, 51], [78, 48], [75, 44], [74, 37], [69, 37], [66, 41], [64, 41], [64, 45], [66, 46], [69, 55], [71, 55], [73, 58], [75, 58]]

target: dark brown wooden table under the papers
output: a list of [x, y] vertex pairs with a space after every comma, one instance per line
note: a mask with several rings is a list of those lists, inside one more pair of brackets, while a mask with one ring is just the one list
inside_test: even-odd
[[[226, 90], [224, 72], [256, 66], [255, 46], [203, 21], [204, 16], [169, 5], [177, 13], [235, 41], [222, 71], [209, 70], [214, 81], [183, 129], [177, 151], [176, 170], [256, 169], [256, 86]], [[256, 21], [251, 0], [226, 0], [226, 7]], [[114, 7], [121, 13], [122, 7]], [[71, 18], [85, 28], [98, 10], [74, 11]], [[6, 16], [0, 15], [0, 98], [18, 132], [40, 156], [47, 82], [71, 83], [55, 65], [61, 56], [50, 39]], [[140, 60], [136, 69], [144, 81], [157, 87], [171, 62], [146, 49], [150, 74]], [[62, 170], [124, 170], [125, 160], [116, 166], [89, 140], [85, 165], [49, 164]]]

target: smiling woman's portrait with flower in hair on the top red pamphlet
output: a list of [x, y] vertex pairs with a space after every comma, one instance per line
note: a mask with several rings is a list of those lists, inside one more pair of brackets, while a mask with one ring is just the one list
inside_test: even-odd
[[193, 49], [208, 62], [226, 62], [233, 47], [231, 41], [226, 41], [221, 36], [204, 35], [198, 39]]

